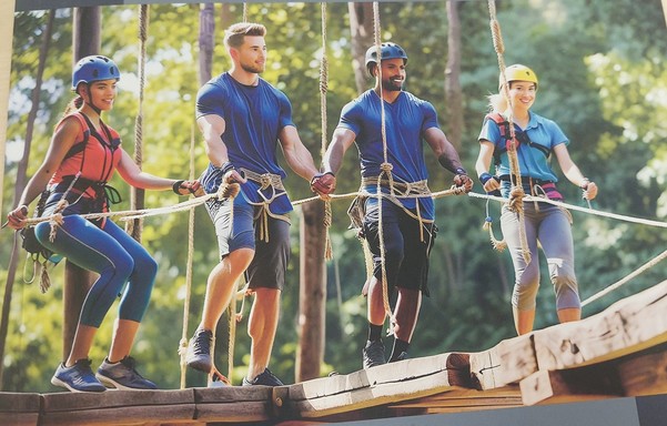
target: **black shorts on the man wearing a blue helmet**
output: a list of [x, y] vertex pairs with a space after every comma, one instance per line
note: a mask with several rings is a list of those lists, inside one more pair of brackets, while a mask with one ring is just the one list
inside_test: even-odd
[[[364, 237], [373, 255], [373, 275], [382, 280], [382, 255], [380, 250], [380, 209], [368, 207], [363, 222]], [[383, 240], [385, 247], [385, 272], [387, 287], [421, 290], [428, 295], [428, 255], [437, 234], [435, 223], [422, 223], [396, 204], [382, 201]]]

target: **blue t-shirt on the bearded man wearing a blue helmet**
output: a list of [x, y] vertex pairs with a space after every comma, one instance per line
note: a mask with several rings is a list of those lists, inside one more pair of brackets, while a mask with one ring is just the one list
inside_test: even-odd
[[[380, 95], [374, 90], [367, 90], [341, 112], [338, 128], [348, 129], [356, 135], [363, 178], [378, 176], [384, 162], [381, 110]], [[427, 129], [438, 126], [435, 108], [410, 92], [401, 92], [393, 103], [384, 102], [384, 115], [387, 162], [393, 166], [394, 180], [410, 183], [427, 180], [422, 141]], [[376, 186], [371, 185], [366, 191], [375, 193]], [[383, 189], [383, 192], [388, 192], [388, 189]], [[417, 199], [400, 200], [406, 209], [414, 210], [416, 206]], [[433, 199], [425, 196], [418, 200], [422, 217], [433, 220]]]

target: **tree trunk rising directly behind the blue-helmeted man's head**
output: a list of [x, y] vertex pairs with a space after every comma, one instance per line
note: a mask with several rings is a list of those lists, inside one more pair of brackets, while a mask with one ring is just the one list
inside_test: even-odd
[[365, 57], [373, 44], [373, 3], [347, 3], [350, 31], [352, 33], [352, 65], [356, 91], [362, 93], [367, 87]]

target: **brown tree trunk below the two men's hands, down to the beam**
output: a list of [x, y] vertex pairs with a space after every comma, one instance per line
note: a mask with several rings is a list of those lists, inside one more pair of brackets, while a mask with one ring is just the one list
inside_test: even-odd
[[301, 211], [297, 383], [320, 377], [326, 302], [324, 203], [305, 203]]

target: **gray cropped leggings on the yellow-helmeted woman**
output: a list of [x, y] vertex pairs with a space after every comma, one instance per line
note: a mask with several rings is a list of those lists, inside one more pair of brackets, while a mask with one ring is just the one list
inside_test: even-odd
[[511, 212], [507, 206], [503, 207], [501, 226], [512, 254], [515, 273], [512, 305], [519, 311], [535, 310], [539, 287], [539, 242], [549, 266], [549, 276], [556, 293], [556, 308], [580, 308], [569, 212], [546, 203], [539, 203], [539, 209], [535, 209], [532, 202], [524, 203], [524, 222], [530, 250], [528, 264], [522, 254], [518, 214]]

